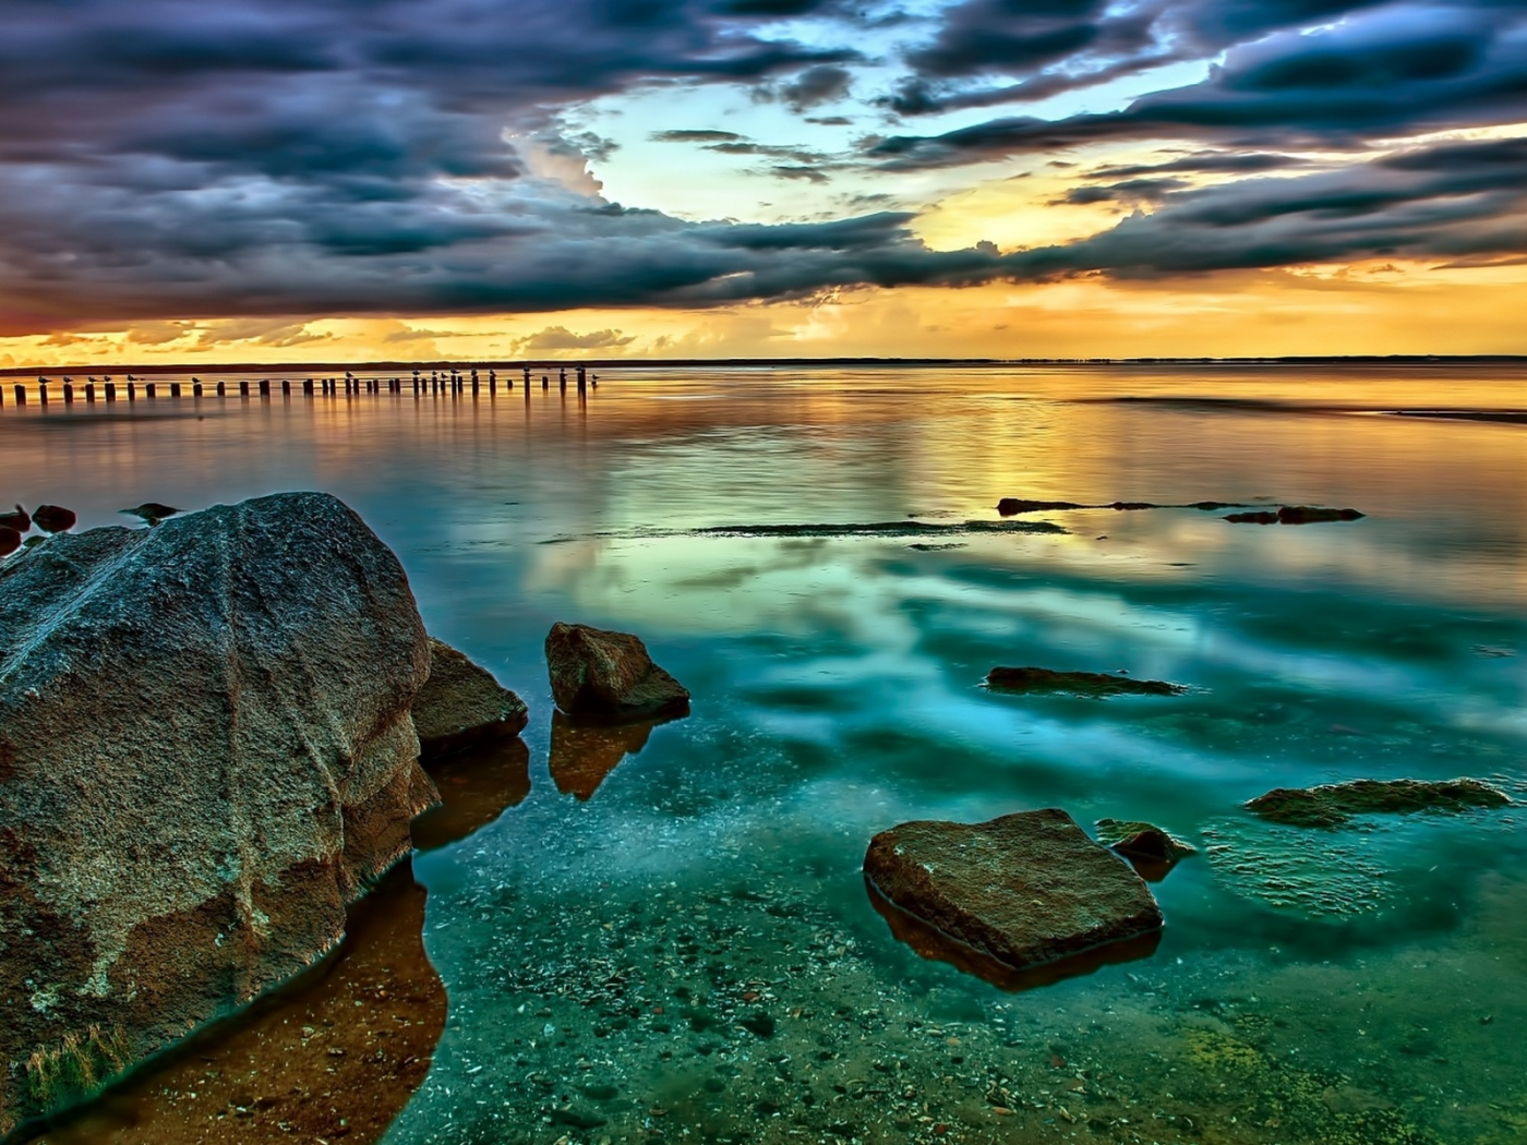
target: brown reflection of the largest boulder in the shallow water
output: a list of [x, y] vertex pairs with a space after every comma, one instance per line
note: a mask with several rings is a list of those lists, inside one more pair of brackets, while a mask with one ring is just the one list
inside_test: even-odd
[[429, 1072], [446, 991], [425, 957], [425, 889], [394, 867], [319, 968], [151, 1061], [34, 1145], [377, 1140]]

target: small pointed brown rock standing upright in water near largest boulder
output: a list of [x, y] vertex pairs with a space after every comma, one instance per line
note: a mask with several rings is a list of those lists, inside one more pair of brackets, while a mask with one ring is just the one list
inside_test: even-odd
[[689, 711], [689, 690], [626, 632], [553, 624], [547, 669], [557, 707], [577, 719], [625, 721]]

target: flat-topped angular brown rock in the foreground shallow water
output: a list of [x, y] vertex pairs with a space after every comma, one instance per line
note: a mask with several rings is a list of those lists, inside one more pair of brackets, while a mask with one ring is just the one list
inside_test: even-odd
[[1058, 809], [902, 823], [870, 840], [864, 873], [902, 910], [1020, 969], [1162, 925], [1141, 876]]

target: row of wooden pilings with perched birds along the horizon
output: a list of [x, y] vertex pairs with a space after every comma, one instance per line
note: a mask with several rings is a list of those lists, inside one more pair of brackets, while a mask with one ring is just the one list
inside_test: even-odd
[[[530, 397], [531, 376], [530, 366], [522, 368], [522, 385], [525, 389], [525, 397]], [[40, 405], [49, 403], [49, 385], [46, 377], [37, 379], [37, 400]], [[189, 382], [145, 382], [142, 379], [128, 377], [127, 382], [118, 383], [113, 380], [96, 382], [95, 379], [86, 382], [82, 386], [76, 386], [72, 380], [64, 380], [60, 383], [63, 392], [63, 402], [66, 406], [75, 403], [76, 391], [82, 392], [87, 405], [95, 405], [99, 398], [105, 402], [116, 402], [118, 394], [122, 392], [128, 402], [137, 402], [139, 389], [147, 400], [154, 400], [160, 395], [160, 386], [169, 388], [169, 397], [179, 398], [185, 397], [185, 388], [191, 388], [192, 397], [205, 397], [206, 389], [211, 385], [212, 392], [217, 397], [228, 397], [229, 388], [238, 388], [238, 397], [250, 397], [257, 394], [260, 397], [270, 397], [272, 392], [279, 389], [281, 394], [301, 392], [305, 397], [313, 397], [315, 394], [403, 394], [412, 386], [415, 395], [421, 394], [481, 394], [486, 388], [489, 394], [498, 392], [499, 377], [496, 369], [487, 371], [487, 377], [476, 369], [470, 376], [450, 371], [449, 374], [440, 374], [440, 371], [432, 371], [429, 377], [423, 376], [423, 371], [415, 369], [412, 379], [403, 377], [356, 377], [347, 373], [344, 377], [305, 377], [293, 382], [292, 379], [279, 379], [272, 382], [270, 379], [260, 379], [258, 382], [250, 382], [249, 379], [240, 379], [237, 382], [218, 380], [212, 383], [202, 382], [199, 377], [192, 377]], [[576, 368], [576, 385], [579, 394], [586, 394], [589, 386], [599, 388], [599, 376], [589, 376], [586, 366]], [[385, 388], [385, 389], [383, 389]], [[512, 376], [504, 377], [504, 389], [513, 391], [515, 379]], [[551, 376], [541, 376], [541, 388], [551, 389]], [[557, 388], [567, 392], [568, 388], [568, 369], [562, 366], [557, 374]], [[24, 406], [27, 400], [26, 385], [21, 382], [15, 383], [15, 405]], [[0, 406], [5, 405], [5, 389], [0, 388]]]

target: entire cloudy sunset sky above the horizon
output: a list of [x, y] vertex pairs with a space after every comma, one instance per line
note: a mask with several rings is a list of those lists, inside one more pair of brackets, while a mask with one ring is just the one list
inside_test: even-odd
[[0, 366], [1527, 353], [1527, 0], [5, 0]]

